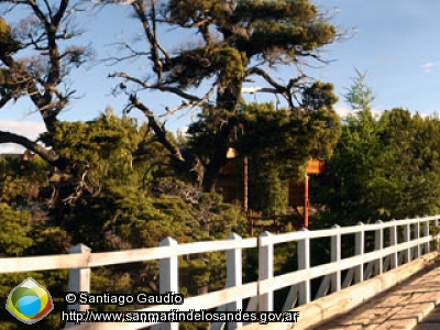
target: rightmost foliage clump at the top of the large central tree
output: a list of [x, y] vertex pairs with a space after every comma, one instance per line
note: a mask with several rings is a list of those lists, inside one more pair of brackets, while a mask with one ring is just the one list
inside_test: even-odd
[[305, 0], [240, 1], [233, 20], [253, 29], [249, 40], [238, 43], [251, 56], [278, 54], [294, 59], [334, 40], [334, 28], [317, 15], [317, 8]]

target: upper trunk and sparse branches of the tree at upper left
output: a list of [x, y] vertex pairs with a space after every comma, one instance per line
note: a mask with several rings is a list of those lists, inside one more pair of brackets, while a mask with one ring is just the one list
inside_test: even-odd
[[[21, 88], [18, 96], [29, 96], [41, 113], [47, 130], [51, 130], [57, 121], [57, 116], [68, 103], [74, 91], [62, 92], [59, 84], [70, 68], [78, 67], [88, 55], [86, 48], [68, 46], [61, 54], [59, 41], [69, 40], [79, 34], [70, 26], [70, 16], [82, 2], [70, 0], [58, 1], [0, 1], [10, 4], [11, 10], [21, 6], [28, 7], [34, 13], [34, 18], [22, 21], [21, 31], [16, 36], [21, 42], [20, 50], [29, 46], [36, 52], [36, 61], [25, 59], [0, 50], [0, 61], [15, 76], [22, 77], [26, 84], [16, 85]], [[72, 32], [70, 32], [72, 30]], [[11, 42], [15, 40], [11, 38]], [[3, 98], [6, 101], [6, 98]], [[2, 105], [4, 106], [4, 101]]]

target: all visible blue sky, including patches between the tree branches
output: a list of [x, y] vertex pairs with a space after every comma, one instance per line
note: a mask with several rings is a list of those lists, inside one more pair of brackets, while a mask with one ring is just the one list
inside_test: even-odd
[[[346, 109], [343, 102], [345, 88], [355, 75], [354, 68], [367, 72], [366, 84], [375, 92], [374, 109], [385, 110], [403, 107], [411, 112], [431, 114], [440, 112], [440, 1], [438, 0], [315, 0], [321, 11], [331, 12], [331, 22], [349, 37], [322, 50], [328, 65], [315, 63], [317, 68], [307, 73], [316, 79], [332, 82], [340, 98], [337, 108]], [[336, 10], [337, 9], [337, 10]], [[98, 57], [111, 53], [111, 43], [118, 37], [135, 37], [134, 20], [130, 8], [108, 8], [95, 15], [82, 18], [87, 31], [80, 43], [90, 43]], [[163, 38], [173, 45], [176, 36]], [[182, 45], [185, 40], [177, 40]], [[128, 65], [128, 64], [125, 64]], [[128, 68], [128, 67], [123, 67]], [[73, 87], [81, 98], [74, 100], [62, 116], [65, 120], [90, 120], [112, 106], [121, 113], [127, 99], [111, 96], [111, 88], [118, 80], [108, 79], [109, 73], [118, 67], [96, 65], [80, 68], [72, 76]], [[130, 69], [142, 72], [143, 67], [132, 64]], [[283, 75], [283, 74], [280, 74]], [[287, 77], [286, 77], [287, 78]], [[148, 95], [153, 108], [164, 109], [168, 97], [164, 94]], [[256, 97], [264, 100], [263, 97]], [[0, 110], [0, 129], [12, 128], [30, 138], [43, 129], [42, 122], [32, 112], [26, 101], [10, 103]], [[139, 112], [132, 113], [142, 119]], [[190, 116], [187, 116], [190, 117]], [[18, 125], [15, 121], [25, 121]], [[186, 123], [185, 117], [177, 116], [167, 121], [175, 131]]]

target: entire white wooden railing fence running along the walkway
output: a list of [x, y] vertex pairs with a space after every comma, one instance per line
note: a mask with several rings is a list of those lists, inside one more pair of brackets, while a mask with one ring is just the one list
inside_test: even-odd
[[[142, 311], [199, 310], [218, 308], [219, 310], [274, 310], [274, 292], [289, 288], [283, 310], [289, 310], [312, 299], [339, 292], [352, 284], [369, 279], [430, 252], [430, 244], [437, 249], [437, 235], [431, 229], [439, 224], [440, 216], [377, 221], [374, 224], [359, 223], [354, 227], [334, 226], [327, 230], [283, 233], [273, 235], [263, 232], [258, 238], [242, 239], [231, 234], [227, 241], [210, 241], [178, 244], [174, 239], [164, 239], [158, 248], [139, 249], [120, 252], [91, 253], [86, 245], [74, 246], [70, 254], [8, 257], [0, 258], [0, 274], [68, 268], [72, 292], [90, 292], [90, 271], [94, 267], [123, 263], [160, 260], [160, 293], [178, 293], [178, 256], [195, 253], [224, 251], [227, 254], [226, 288], [190, 297], [179, 306], [153, 306]], [[374, 234], [374, 250], [365, 251], [367, 233]], [[341, 257], [341, 241], [352, 237], [354, 255]], [[330, 239], [330, 262], [317, 266], [310, 265], [310, 245], [314, 240]], [[274, 276], [274, 246], [296, 242], [298, 271]], [[258, 279], [242, 283], [242, 252], [244, 249], [257, 249]], [[342, 274], [345, 274], [342, 278]], [[322, 278], [315, 297], [311, 297], [310, 282]], [[248, 305], [243, 306], [243, 300]], [[73, 306], [85, 310], [88, 306]], [[141, 329], [154, 323], [118, 323], [118, 329]], [[69, 326], [69, 324], [68, 324]], [[229, 323], [229, 329], [240, 328], [242, 323]], [[212, 329], [224, 324], [213, 323]], [[114, 329], [114, 323], [82, 323], [72, 329]], [[161, 329], [178, 329], [178, 323], [162, 324]]]

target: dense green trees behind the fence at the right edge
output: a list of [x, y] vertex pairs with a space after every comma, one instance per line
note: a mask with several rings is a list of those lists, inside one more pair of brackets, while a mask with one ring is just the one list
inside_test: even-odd
[[329, 164], [336, 183], [326, 197], [326, 219], [355, 224], [438, 212], [439, 130], [438, 120], [403, 109], [386, 111], [380, 121], [369, 111], [352, 118]]

